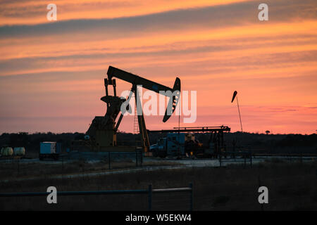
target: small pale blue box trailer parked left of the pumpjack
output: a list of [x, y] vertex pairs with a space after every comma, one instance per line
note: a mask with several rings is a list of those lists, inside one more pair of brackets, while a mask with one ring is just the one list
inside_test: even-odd
[[39, 160], [46, 158], [58, 160], [60, 153], [61, 143], [48, 141], [39, 143]]

